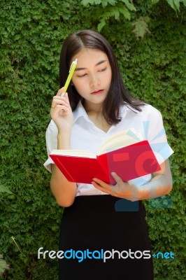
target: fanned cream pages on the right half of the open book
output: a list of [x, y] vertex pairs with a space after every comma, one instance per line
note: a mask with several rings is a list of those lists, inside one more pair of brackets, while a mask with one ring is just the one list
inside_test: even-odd
[[138, 134], [134, 128], [129, 130], [123, 130], [112, 137], [106, 139], [103, 144], [100, 146], [98, 155], [102, 155], [103, 153], [107, 153], [109, 151], [114, 151], [117, 148], [122, 148], [125, 146], [129, 146], [131, 144], [138, 143], [139, 141], [143, 141], [143, 137], [141, 134]]

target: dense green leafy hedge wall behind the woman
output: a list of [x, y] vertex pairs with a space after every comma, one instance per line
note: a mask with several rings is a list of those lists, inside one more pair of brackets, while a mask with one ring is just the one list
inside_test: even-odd
[[[0, 2], [0, 184], [12, 192], [0, 193], [0, 253], [10, 267], [1, 278], [57, 279], [57, 260], [37, 258], [40, 247], [57, 251], [63, 211], [43, 167], [45, 130], [64, 38], [99, 28], [113, 45], [131, 93], [162, 112], [175, 151], [172, 204], [152, 207], [154, 202], [146, 201], [147, 221], [153, 252], [175, 253], [175, 259], [155, 260], [155, 280], [184, 280], [186, 8], [180, 3], [175, 11], [167, 3], [181, 1], [154, 1], [154, 6], [133, 1], [136, 10], [130, 1], [87, 2]], [[128, 5], [128, 14], [121, 5]]]

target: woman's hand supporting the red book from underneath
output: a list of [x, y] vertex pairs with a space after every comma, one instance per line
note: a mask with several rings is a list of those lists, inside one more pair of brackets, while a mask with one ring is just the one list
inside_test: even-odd
[[115, 172], [112, 172], [111, 175], [116, 181], [114, 186], [96, 178], [92, 179], [92, 185], [103, 193], [108, 193], [113, 197], [124, 198], [126, 200], [131, 200], [132, 202], [139, 200], [139, 192], [136, 185], [122, 181], [120, 176], [117, 176]]

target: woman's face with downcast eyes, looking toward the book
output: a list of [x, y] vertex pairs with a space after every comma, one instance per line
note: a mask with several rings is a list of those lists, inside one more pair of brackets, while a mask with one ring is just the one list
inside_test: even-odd
[[110, 88], [112, 71], [108, 56], [101, 50], [83, 48], [74, 59], [78, 59], [72, 83], [85, 99], [86, 109], [100, 108]]

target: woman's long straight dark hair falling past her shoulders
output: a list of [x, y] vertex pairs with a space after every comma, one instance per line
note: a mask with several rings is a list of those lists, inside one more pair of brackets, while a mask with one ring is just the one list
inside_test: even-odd
[[[107, 123], [115, 125], [120, 122], [119, 109], [122, 104], [129, 105], [131, 108], [141, 111], [141, 106], [144, 104], [143, 102], [131, 97], [124, 86], [120, 69], [117, 64], [117, 59], [110, 43], [108, 43], [106, 38], [104, 38], [101, 34], [89, 29], [71, 34], [64, 41], [59, 60], [59, 87], [64, 86], [66, 78], [69, 74], [72, 57], [75, 57], [76, 54], [83, 48], [91, 48], [105, 52], [110, 62], [112, 78], [110, 89], [103, 102], [102, 109], [103, 116], [106, 118]], [[72, 85], [69, 85], [68, 94], [72, 111], [74, 111], [82, 97], [78, 94], [76, 87]]]

